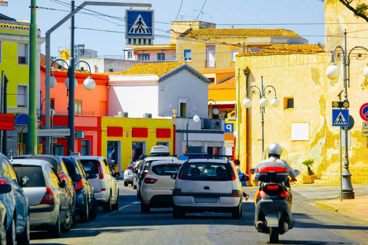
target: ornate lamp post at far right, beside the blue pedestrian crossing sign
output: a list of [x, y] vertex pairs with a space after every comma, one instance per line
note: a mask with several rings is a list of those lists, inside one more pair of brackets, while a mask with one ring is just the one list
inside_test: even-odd
[[[352, 51], [354, 49], [363, 49], [365, 52], [368, 52], [368, 49], [362, 47], [362, 46], [355, 46], [354, 48], [350, 49], [349, 53], [347, 53], [346, 49], [346, 30], [344, 32], [344, 44], [345, 47], [342, 48], [340, 45], [336, 46], [335, 49], [332, 52], [331, 56], [331, 62], [332, 64], [328, 66], [326, 70], [326, 76], [331, 79], [335, 80], [339, 78], [340, 69], [339, 66], [337, 66], [335, 62], [336, 59], [340, 59], [342, 56], [343, 60], [343, 82], [344, 82], [344, 102], [347, 102], [347, 87], [350, 87], [350, 55], [352, 54]], [[337, 50], [340, 49], [342, 51], [342, 55], [337, 54]], [[354, 56], [352, 56], [354, 57]], [[358, 53], [356, 55], [356, 58], [359, 59], [362, 57], [361, 53]], [[363, 74], [366, 78], [368, 78], [368, 66], [364, 69]], [[351, 185], [351, 173], [349, 172], [349, 156], [348, 156], [348, 149], [347, 149], [347, 143], [348, 143], [348, 127], [344, 127], [343, 130], [345, 131], [345, 147], [344, 147], [344, 172], [342, 173], [342, 198], [343, 199], [354, 199], [354, 191], [353, 187]]]

